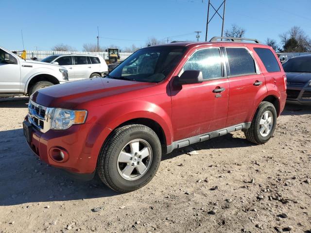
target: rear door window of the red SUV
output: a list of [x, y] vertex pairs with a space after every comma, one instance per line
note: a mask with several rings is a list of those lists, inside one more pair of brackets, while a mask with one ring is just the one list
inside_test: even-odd
[[244, 48], [226, 48], [230, 76], [255, 74], [255, 61]]

